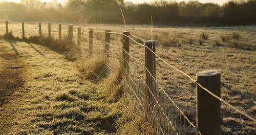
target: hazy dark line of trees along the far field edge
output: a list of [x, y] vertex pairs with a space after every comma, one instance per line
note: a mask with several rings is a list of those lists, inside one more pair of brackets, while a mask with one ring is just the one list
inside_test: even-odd
[[122, 23], [159, 25], [255, 25], [256, 0], [229, 1], [223, 5], [155, 1], [133, 4], [123, 0], [69, 0], [65, 6], [41, 3], [39, 0], [22, 0], [22, 3], [0, 4], [0, 19], [36, 21], [78, 21], [95, 23]]

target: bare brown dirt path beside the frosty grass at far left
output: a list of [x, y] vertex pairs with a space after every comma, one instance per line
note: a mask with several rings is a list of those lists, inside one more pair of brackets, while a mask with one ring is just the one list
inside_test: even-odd
[[13, 46], [13, 41], [0, 40], [0, 134], [15, 125], [19, 98], [24, 91], [24, 63]]

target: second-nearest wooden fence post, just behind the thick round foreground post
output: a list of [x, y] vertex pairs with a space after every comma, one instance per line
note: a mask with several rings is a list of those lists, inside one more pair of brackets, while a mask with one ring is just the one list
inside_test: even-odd
[[[145, 86], [145, 106], [146, 112], [150, 113], [150, 108], [154, 107], [153, 95], [156, 94], [156, 41], [148, 40], [145, 42], [145, 66], [146, 66], [146, 86]], [[150, 113], [151, 114], [151, 113]], [[146, 118], [147, 120], [147, 118]]]

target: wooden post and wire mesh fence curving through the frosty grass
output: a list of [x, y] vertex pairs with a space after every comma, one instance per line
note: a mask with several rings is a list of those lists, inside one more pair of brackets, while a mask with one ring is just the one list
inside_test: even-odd
[[[25, 25], [22, 22], [22, 33], [19, 33], [22, 38], [26, 37]], [[63, 29], [62, 25], [58, 24], [58, 30], [54, 29], [55, 34], [52, 34], [51, 28], [49, 23], [48, 35], [44, 35], [47, 31], [46, 28], [43, 28], [45, 31], [42, 31], [40, 22], [36, 29], [37, 35], [51, 38], [58, 35], [58, 39], [61, 40], [62, 36], [66, 34], [69, 46], [76, 46], [74, 48], [78, 49], [79, 57], [83, 54], [87, 54], [87, 58], [104, 57], [109, 74], [117, 69], [122, 71], [123, 88], [127, 98], [132, 99], [138, 113], [145, 117], [146, 125], [152, 130], [150, 134], [221, 134], [221, 127], [229, 127], [238, 131], [239, 129], [233, 129], [234, 127], [223, 124], [221, 103], [243, 115], [244, 117], [241, 119], [244, 121], [252, 122], [252, 124], [256, 122], [254, 117], [220, 98], [221, 86], [229, 88], [221, 82], [221, 71], [199, 72], [198, 68], [169, 53], [162, 46], [156, 46], [155, 40], [146, 41], [129, 31], [119, 33], [90, 29], [86, 33], [86, 29], [82, 27], [69, 25], [68, 29]], [[6, 21], [6, 33], [9, 30], [8, 21]], [[121, 42], [118, 41], [119, 39]], [[174, 58], [175, 61], [183, 63], [191, 71], [198, 72], [197, 79], [193, 79], [164, 60], [157, 54], [157, 49]], [[195, 84], [196, 96], [194, 96], [193, 90], [188, 89], [183, 82], [175, 78], [173, 72], [187, 78], [191, 84]], [[173, 86], [171, 89], [165, 87], [166, 78], [159, 77], [160, 73], [169, 76], [170, 82], [168, 83]], [[178, 95], [173, 96], [174, 92]], [[179, 94], [185, 94], [188, 99], [179, 99]], [[180, 100], [186, 101], [179, 103]], [[193, 102], [189, 106], [193, 107], [189, 108], [184, 105], [186, 102]], [[196, 120], [193, 118], [194, 111], [196, 111]]]

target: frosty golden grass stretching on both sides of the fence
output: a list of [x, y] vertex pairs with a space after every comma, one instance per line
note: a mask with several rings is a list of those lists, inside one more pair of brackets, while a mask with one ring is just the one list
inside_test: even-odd
[[[9, 30], [13, 30], [14, 36], [21, 35], [21, 25], [19, 28], [18, 24], [19, 22], [11, 22], [9, 25]], [[42, 27], [43, 32], [47, 34], [47, 24], [43, 25], [45, 26], [45, 28]], [[55, 38], [58, 34], [57, 25], [57, 23], [52, 24]], [[67, 27], [64, 27], [65, 24], [62, 23], [62, 25], [62, 28], [67, 30]], [[1, 35], [5, 32], [4, 28], [5, 24], [2, 22], [0, 25]], [[38, 27], [34, 22], [25, 25], [25, 28], [29, 28], [26, 35], [38, 34]], [[193, 79], [196, 78], [196, 73], [199, 71], [221, 70], [222, 82], [230, 87], [229, 89], [222, 87], [221, 98], [255, 118], [255, 26], [209, 28], [158, 26], [153, 29], [152, 35], [150, 26], [132, 25], [125, 28], [121, 25], [88, 24], [84, 26], [86, 30], [84, 36], [88, 36], [90, 28], [97, 31], [110, 29], [116, 32], [129, 30], [131, 34], [145, 40], [156, 39], [156, 53], [168, 63], [192, 76]], [[95, 32], [94, 37], [104, 39], [104, 33]], [[74, 34], [74, 38], [76, 38], [76, 34]], [[134, 38], [138, 42], [143, 42], [139, 38]], [[120, 46], [120, 39], [120, 35], [111, 34], [111, 43]], [[129, 101], [121, 97], [118, 101], [110, 102], [113, 100], [109, 99], [109, 97], [113, 97], [110, 96], [112, 93], [105, 88], [111, 77], [97, 83], [84, 77], [87, 74], [81, 71], [87, 71], [88, 67], [88, 69], [90, 67], [94, 69], [93, 65], [79, 60], [69, 61], [62, 54], [51, 52], [47, 48], [34, 44], [9, 42], [1, 41], [1, 50], [3, 50], [1, 52], [10, 55], [18, 53], [13, 56], [15, 60], [12, 62], [18, 63], [17, 67], [26, 68], [19, 69], [20, 72], [15, 75], [21, 76], [18, 80], [22, 83], [17, 84], [17, 87], [21, 88], [16, 88], [17, 91], [8, 94], [12, 96], [9, 96], [8, 103], [3, 103], [4, 111], [0, 110], [3, 133], [135, 134], [144, 131], [142, 121], [139, 120], [140, 117], [136, 118], [136, 115], [132, 115], [126, 118], [124, 115], [127, 106], [124, 107], [123, 104], [129, 106]], [[87, 43], [82, 43], [82, 50], [87, 45]], [[95, 48], [101, 49], [99, 45]], [[144, 47], [131, 42], [130, 48], [131, 54], [144, 63]], [[93, 59], [93, 61], [100, 63], [98, 59]], [[189, 119], [196, 123], [195, 84], [160, 60], [157, 59], [157, 62], [158, 81]], [[1, 63], [12, 64], [4, 57], [2, 57]], [[138, 65], [133, 66], [140, 70]], [[189, 68], [189, 66], [194, 68]], [[81, 67], [86, 68], [81, 70]], [[2, 72], [3, 69], [5, 69], [4, 64], [2, 64]], [[133, 107], [128, 108], [129, 111], [134, 111]], [[222, 105], [221, 108], [223, 134], [256, 133], [255, 123], [228, 106]], [[11, 113], [14, 110], [17, 115]], [[23, 121], [21, 121], [22, 119]], [[9, 124], [4, 124], [6, 122]], [[133, 126], [134, 124], [137, 126]], [[11, 128], [6, 128], [8, 126]], [[129, 127], [135, 129], [129, 130]]]

